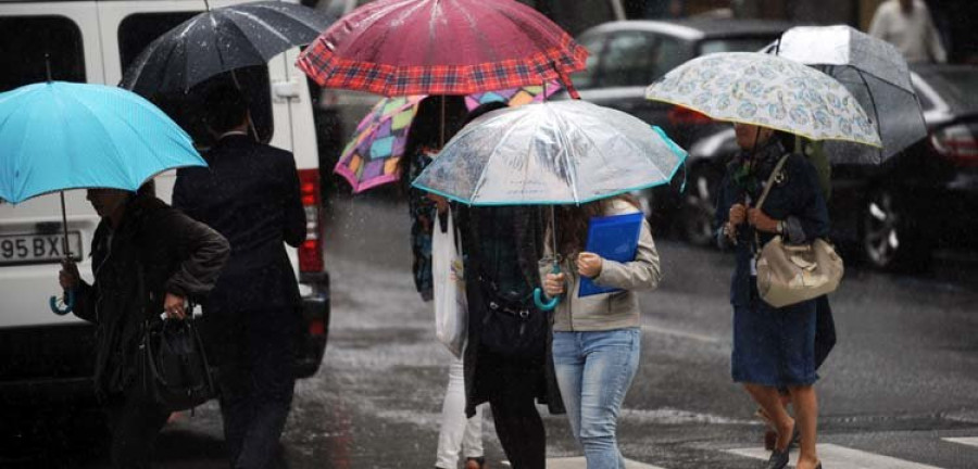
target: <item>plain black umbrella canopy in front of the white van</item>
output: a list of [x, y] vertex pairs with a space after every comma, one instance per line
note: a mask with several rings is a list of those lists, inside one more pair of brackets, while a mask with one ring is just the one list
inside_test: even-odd
[[281, 1], [262, 1], [200, 13], [150, 42], [120, 86], [149, 97], [186, 92], [214, 75], [263, 65], [310, 43], [335, 18]]

